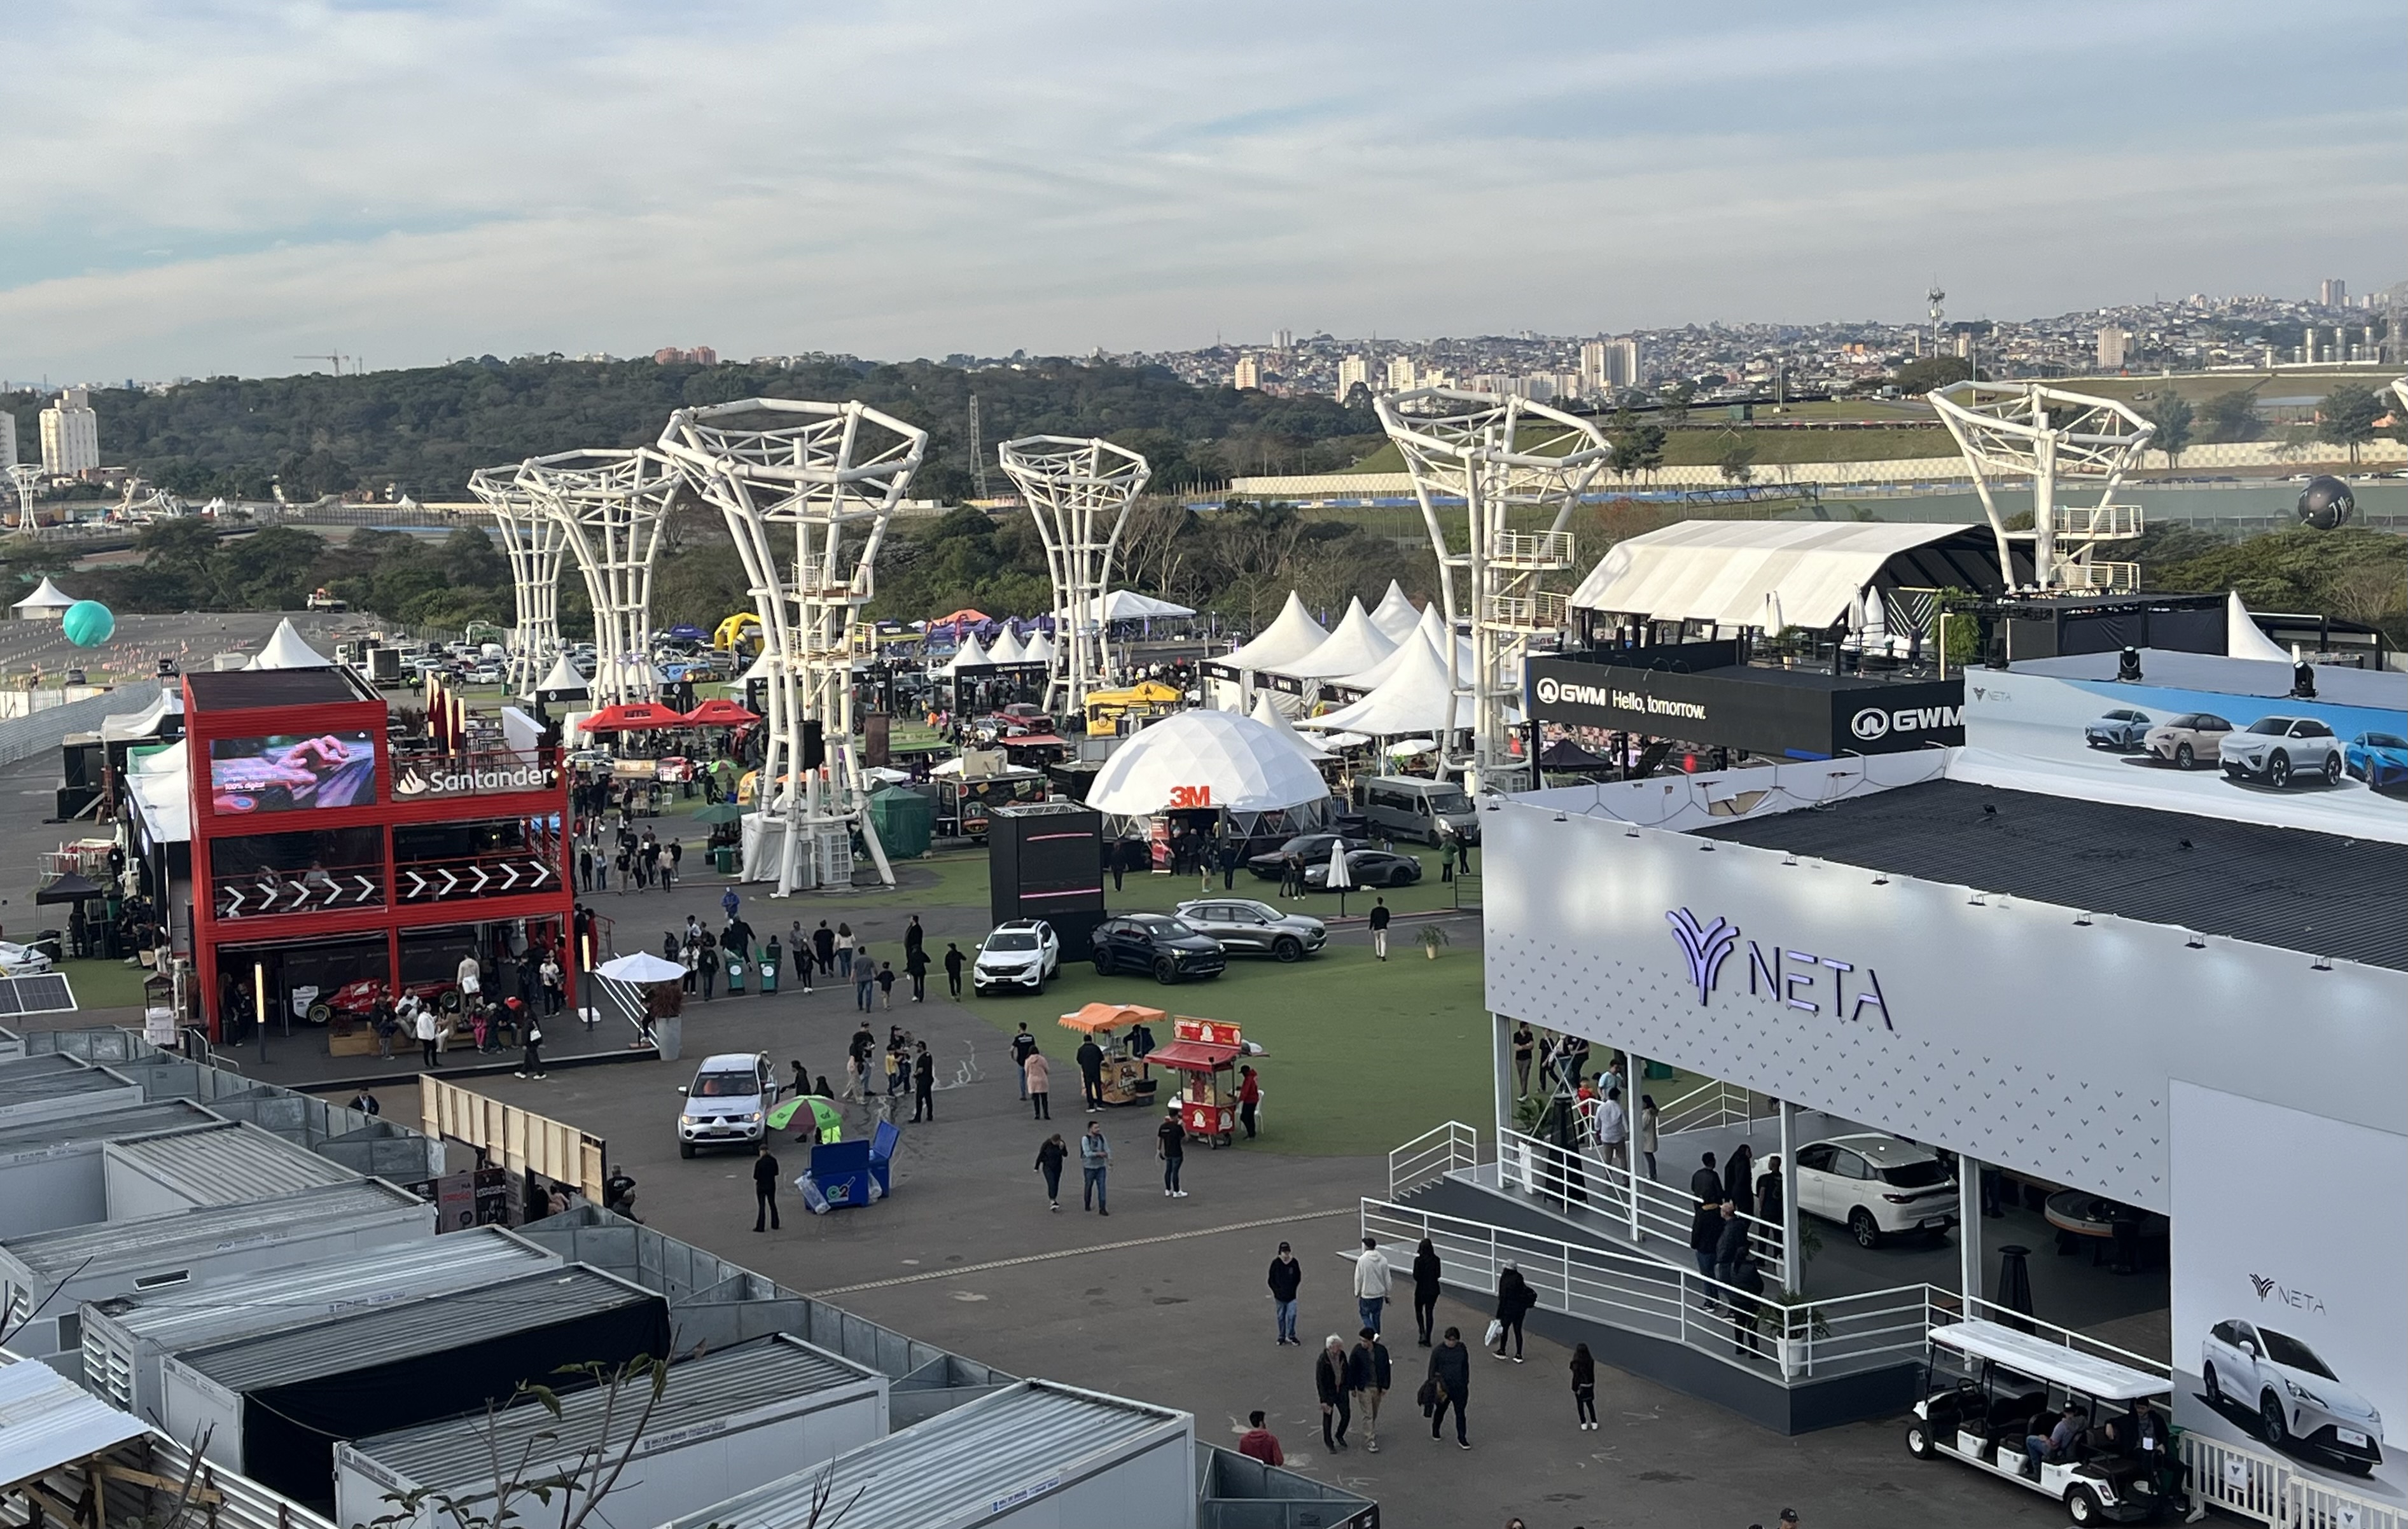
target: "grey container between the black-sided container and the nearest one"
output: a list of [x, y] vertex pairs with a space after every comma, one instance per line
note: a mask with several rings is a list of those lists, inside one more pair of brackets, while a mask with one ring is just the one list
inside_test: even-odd
[[[335, 1447], [335, 1522], [397, 1517], [397, 1529], [450, 1529], [455, 1515], [494, 1512], [496, 1454], [513, 1476], [539, 1481], [626, 1466], [607, 1490], [600, 1522], [665, 1524], [722, 1498], [886, 1438], [886, 1377], [811, 1348], [802, 1339], [759, 1339], [669, 1365], [669, 1382], [636, 1433], [643, 1397], [602, 1389], [561, 1397], [551, 1416], [523, 1401], [498, 1416], [467, 1413]], [[542, 1517], [559, 1522], [585, 1503], [583, 1483], [554, 1493]], [[448, 1500], [436, 1507], [436, 1498]]]

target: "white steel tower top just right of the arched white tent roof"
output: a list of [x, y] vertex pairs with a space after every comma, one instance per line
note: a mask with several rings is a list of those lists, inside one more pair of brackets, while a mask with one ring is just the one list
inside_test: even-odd
[[[2141, 506], [2114, 503], [2114, 491], [2158, 426], [2109, 397], [2040, 383], [1950, 383], [1929, 400], [1972, 470], [1972, 486], [1982, 494], [1982, 513], [1989, 515], [1989, 535], [1999, 542], [1999, 571], [2006, 583], [2015, 580], [2015, 563], [2008, 559], [2006, 520], [1991, 496], [1991, 479], [2028, 477], [2032, 583], [2042, 590], [2138, 588], [2136, 563], [2093, 561], [2093, 551], [2100, 542], [2141, 535]], [[2056, 503], [2056, 486], [2071, 479], [2100, 484], [2097, 503]], [[2059, 549], [2059, 542], [2066, 549]]]

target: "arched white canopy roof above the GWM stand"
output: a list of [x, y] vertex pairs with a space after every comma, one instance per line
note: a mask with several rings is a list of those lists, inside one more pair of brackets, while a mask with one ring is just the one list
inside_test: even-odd
[[1683, 520], [1616, 542], [1572, 590], [1572, 604], [1652, 621], [1835, 626], [1893, 556], [1963, 532], [1929, 523]]

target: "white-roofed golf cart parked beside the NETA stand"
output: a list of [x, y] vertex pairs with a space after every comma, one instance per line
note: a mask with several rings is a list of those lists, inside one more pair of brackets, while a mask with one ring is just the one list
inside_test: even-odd
[[[2177, 1481], [2162, 1428], [2172, 1382], [1999, 1322], [1931, 1329], [1929, 1385], [1907, 1423], [1917, 1459], [1955, 1459], [2056, 1498], [2076, 1524], [2143, 1524], [2170, 1507]], [[2138, 1428], [2143, 1409], [2160, 1428]], [[2064, 1459], [2030, 1459], [2025, 1438], [2073, 1413], [2081, 1433]], [[2102, 1442], [2107, 1425], [2119, 1435]], [[2143, 1445], [2150, 1438], [2150, 1445]]]

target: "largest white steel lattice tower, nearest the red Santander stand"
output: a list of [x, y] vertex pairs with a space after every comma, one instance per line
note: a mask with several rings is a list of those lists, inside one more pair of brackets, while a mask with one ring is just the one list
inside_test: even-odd
[[[862, 402], [746, 397], [669, 414], [660, 450], [727, 518], [773, 672], [759, 819], [778, 838], [746, 850], [746, 876], [773, 879], [778, 896], [845, 886], [857, 831], [893, 886], [852, 749], [852, 672], [864, 657], [855, 624], [877, 595], [879, 539], [927, 431]], [[811, 761], [814, 742], [824, 763]]]

